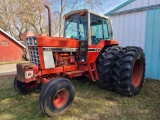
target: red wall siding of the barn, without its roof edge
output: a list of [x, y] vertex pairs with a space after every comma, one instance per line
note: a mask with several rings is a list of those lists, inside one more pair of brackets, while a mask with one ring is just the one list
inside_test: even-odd
[[[2, 41], [7, 40], [8, 46], [3, 46]], [[0, 32], [0, 62], [18, 61], [22, 59], [22, 47]]]

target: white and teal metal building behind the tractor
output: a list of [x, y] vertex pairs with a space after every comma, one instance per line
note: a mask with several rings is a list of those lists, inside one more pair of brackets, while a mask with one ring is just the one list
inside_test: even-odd
[[145, 77], [160, 80], [160, 0], [128, 0], [105, 15], [121, 46], [144, 49]]

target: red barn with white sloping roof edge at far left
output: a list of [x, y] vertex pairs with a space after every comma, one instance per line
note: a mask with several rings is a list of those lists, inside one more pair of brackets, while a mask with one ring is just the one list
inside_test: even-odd
[[0, 62], [21, 60], [22, 48], [26, 47], [0, 28]]

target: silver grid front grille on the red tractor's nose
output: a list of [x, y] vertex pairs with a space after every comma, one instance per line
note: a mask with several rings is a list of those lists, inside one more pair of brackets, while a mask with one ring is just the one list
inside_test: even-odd
[[29, 47], [30, 61], [40, 67], [38, 47]]

